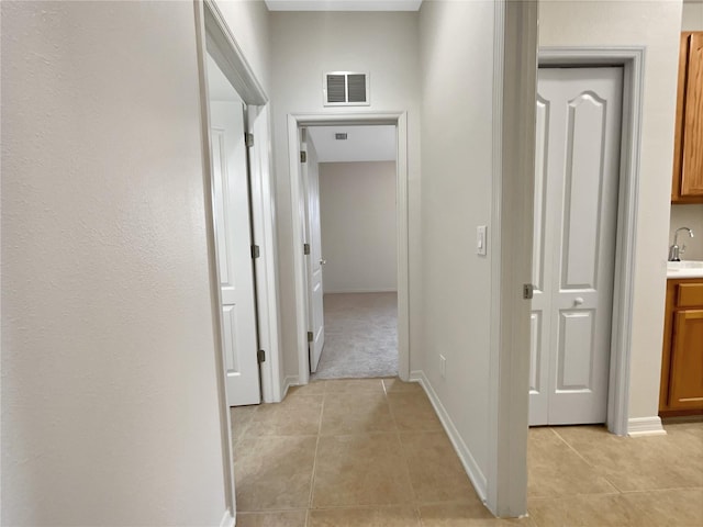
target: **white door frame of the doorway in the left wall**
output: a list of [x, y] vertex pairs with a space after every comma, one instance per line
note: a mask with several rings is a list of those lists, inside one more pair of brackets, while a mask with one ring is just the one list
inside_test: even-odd
[[196, 22], [196, 56], [200, 88], [200, 123], [202, 142], [202, 182], [204, 225], [207, 234], [208, 268], [210, 277], [210, 305], [212, 313], [213, 349], [215, 352], [215, 388], [222, 447], [222, 470], [224, 480], [224, 502], [227, 513], [222, 525], [233, 525], [236, 518], [234, 492], [234, 457], [232, 452], [230, 407], [225, 390], [224, 334], [222, 323], [222, 298], [220, 270], [217, 269], [217, 246], [213, 214], [213, 178], [210, 137], [210, 102], [208, 97], [207, 55], [213, 57], [222, 72], [245, 102], [247, 122], [245, 126], [255, 137], [249, 148], [249, 177], [252, 180], [253, 244], [260, 247], [261, 257], [255, 259], [255, 288], [257, 303], [257, 329], [259, 347], [266, 349], [266, 361], [260, 363], [264, 402], [280, 401], [278, 304], [276, 299], [275, 260], [275, 216], [271, 193], [271, 159], [269, 144], [268, 97], [254, 70], [237, 45], [224, 16], [214, 0], [193, 0]]

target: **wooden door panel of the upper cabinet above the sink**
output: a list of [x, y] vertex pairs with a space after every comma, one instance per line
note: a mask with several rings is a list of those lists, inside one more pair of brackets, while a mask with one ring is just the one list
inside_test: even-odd
[[703, 32], [689, 35], [681, 195], [703, 195]]

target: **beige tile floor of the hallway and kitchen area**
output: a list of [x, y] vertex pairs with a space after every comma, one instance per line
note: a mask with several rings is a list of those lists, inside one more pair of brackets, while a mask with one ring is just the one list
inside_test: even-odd
[[703, 527], [703, 423], [533, 428], [528, 512], [483, 507], [419, 384], [319, 381], [232, 410], [237, 527]]

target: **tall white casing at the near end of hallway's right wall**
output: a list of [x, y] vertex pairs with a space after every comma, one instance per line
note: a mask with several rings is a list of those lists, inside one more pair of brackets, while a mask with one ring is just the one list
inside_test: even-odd
[[537, 2], [494, 4], [491, 348], [486, 501], [496, 516], [527, 512]]

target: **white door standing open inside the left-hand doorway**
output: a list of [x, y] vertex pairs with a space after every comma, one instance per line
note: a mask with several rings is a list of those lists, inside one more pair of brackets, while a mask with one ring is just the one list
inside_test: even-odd
[[245, 106], [212, 59], [208, 63], [208, 83], [227, 404], [258, 404], [261, 399]]

